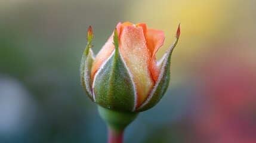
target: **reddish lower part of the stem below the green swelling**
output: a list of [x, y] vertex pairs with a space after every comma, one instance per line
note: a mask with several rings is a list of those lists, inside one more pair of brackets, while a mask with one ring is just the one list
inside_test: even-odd
[[108, 143], [123, 143], [124, 130], [115, 130], [113, 128], [108, 128]]

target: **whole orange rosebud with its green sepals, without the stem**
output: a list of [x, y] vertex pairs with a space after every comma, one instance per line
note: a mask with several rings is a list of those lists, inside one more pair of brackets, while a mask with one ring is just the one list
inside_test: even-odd
[[104, 108], [134, 112], [152, 108], [161, 100], [168, 88], [171, 53], [180, 27], [176, 41], [159, 62], [156, 52], [164, 43], [164, 32], [147, 28], [145, 23], [118, 23], [95, 58], [92, 36], [90, 27], [81, 61], [82, 85], [92, 101]]

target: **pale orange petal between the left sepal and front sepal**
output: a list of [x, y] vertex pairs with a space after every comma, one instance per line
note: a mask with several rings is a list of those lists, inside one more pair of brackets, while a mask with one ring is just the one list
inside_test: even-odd
[[[118, 25], [116, 26], [116, 29], [118, 29], [118, 33], [121, 33], [121, 26], [122, 26], [122, 23], [118, 23]], [[104, 61], [110, 57], [113, 50], [115, 49], [115, 46], [113, 45], [113, 35], [114, 35], [114, 32], [109, 37], [105, 45], [100, 49], [100, 51], [98, 52], [98, 54], [94, 59], [94, 62], [92, 63], [92, 67], [91, 67], [92, 82], [94, 80], [94, 74], [98, 71], [98, 69], [104, 63]]]

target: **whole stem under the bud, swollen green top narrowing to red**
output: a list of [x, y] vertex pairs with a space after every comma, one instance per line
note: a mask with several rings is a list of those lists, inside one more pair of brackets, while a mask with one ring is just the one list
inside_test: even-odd
[[98, 113], [108, 128], [108, 143], [122, 143], [124, 130], [138, 113], [114, 111], [98, 106]]

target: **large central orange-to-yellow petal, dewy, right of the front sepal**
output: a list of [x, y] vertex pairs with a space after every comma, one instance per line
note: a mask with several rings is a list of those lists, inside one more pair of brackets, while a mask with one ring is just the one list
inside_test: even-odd
[[120, 52], [136, 86], [138, 107], [146, 100], [155, 84], [150, 73], [152, 54], [147, 49], [143, 27], [124, 27], [120, 35]]

